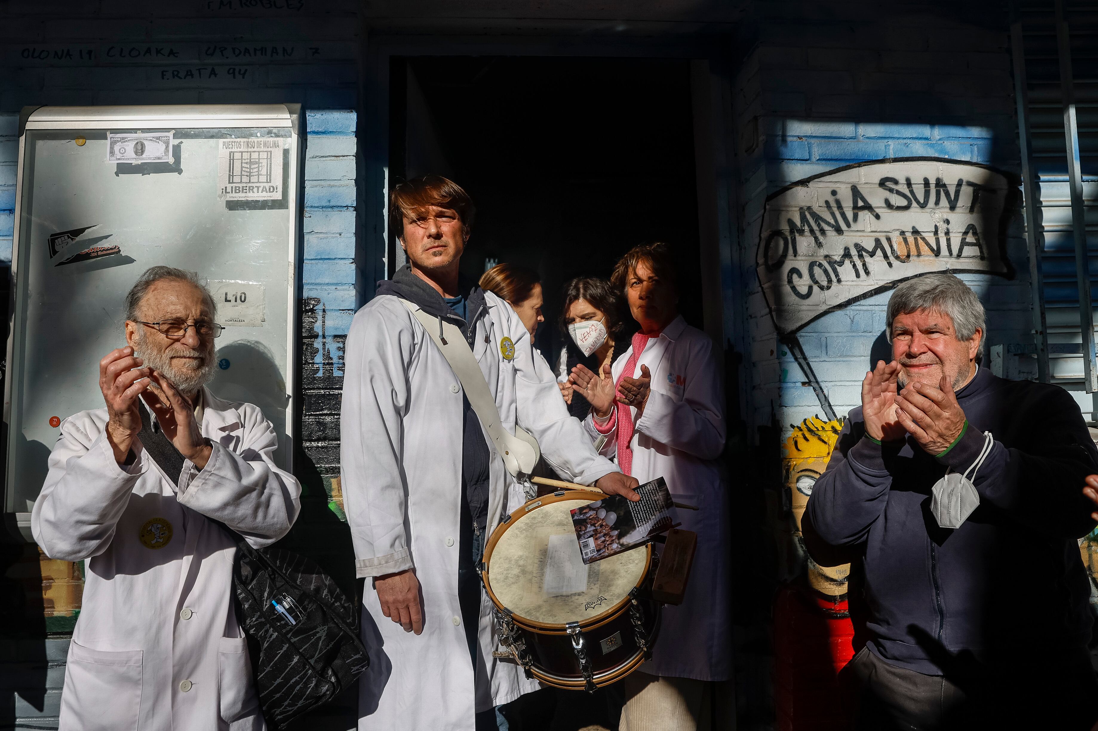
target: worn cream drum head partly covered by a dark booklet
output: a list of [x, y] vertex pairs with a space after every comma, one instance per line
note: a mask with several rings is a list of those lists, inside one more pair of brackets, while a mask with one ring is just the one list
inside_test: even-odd
[[497, 529], [503, 533], [489, 556], [488, 575], [501, 606], [542, 625], [585, 624], [640, 583], [648, 548], [584, 566], [571, 511], [592, 500], [542, 503]]

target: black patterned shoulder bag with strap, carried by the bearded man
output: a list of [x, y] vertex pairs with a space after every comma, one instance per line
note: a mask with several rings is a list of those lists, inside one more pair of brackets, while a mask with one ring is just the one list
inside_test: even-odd
[[[145, 452], [168, 476], [183, 469], [183, 456], [164, 432], [142, 415]], [[206, 516], [209, 518], [209, 516]], [[270, 731], [328, 703], [370, 665], [359, 640], [354, 603], [309, 559], [279, 549], [253, 548], [214, 518], [236, 542], [233, 587], [237, 621], [248, 639], [259, 707]]]

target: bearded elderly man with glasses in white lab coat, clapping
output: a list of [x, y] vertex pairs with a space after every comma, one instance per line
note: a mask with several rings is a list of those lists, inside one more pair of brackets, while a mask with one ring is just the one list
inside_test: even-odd
[[[214, 313], [195, 274], [145, 272], [126, 297], [127, 344], [99, 362], [105, 408], [66, 419], [49, 456], [35, 540], [88, 560], [63, 730], [264, 728], [232, 602], [236, 544], [214, 521], [270, 545], [301, 487], [274, 466], [262, 412], [205, 387]], [[150, 456], [172, 448], [177, 475]]]

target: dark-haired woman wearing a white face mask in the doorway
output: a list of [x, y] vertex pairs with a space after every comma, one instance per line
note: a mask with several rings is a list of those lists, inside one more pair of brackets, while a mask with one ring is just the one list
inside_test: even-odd
[[576, 419], [585, 419], [591, 404], [572, 389], [568, 376], [580, 364], [601, 374], [614, 361], [614, 342], [623, 331], [621, 307], [621, 297], [605, 279], [578, 277], [564, 285], [560, 318], [564, 347], [554, 370], [568, 411]]

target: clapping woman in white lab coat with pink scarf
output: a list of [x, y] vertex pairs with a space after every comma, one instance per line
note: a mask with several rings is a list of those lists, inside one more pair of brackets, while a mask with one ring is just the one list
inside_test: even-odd
[[693, 729], [698, 682], [732, 675], [728, 498], [717, 461], [725, 445], [720, 375], [713, 341], [677, 313], [674, 264], [663, 244], [627, 253], [613, 281], [640, 332], [610, 379], [573, 369], [574, 387], [593, 407], [584, 425], [592, 438], [607, 437], [603, 454], [624, 472], [641, 484], [662, 477], [676, 502], [699, 509], [679, 510], [683, 529], [698, 539], [686, 597], [663, 608], [651, 661], [626, 681], [621, 729]]

